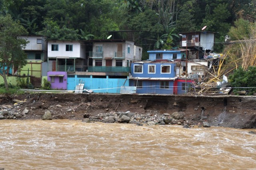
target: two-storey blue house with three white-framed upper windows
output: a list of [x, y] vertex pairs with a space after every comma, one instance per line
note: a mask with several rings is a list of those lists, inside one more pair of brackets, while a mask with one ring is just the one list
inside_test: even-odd
[[174, 94], [176, 63], [142, 61], [131, 64], [130, 86], [140, 94]]

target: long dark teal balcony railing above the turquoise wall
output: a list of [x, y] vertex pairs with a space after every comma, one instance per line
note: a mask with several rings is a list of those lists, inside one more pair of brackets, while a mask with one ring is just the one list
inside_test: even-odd
[[88, 72], [131, 72], [131, 67], [122, 67], [122, 66], [88, 66]]

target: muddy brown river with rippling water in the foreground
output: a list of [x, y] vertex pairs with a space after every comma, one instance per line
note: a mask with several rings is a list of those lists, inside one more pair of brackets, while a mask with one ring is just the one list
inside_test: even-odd
[[4, 170], [255, 169], [252, 129], [1, 120]]

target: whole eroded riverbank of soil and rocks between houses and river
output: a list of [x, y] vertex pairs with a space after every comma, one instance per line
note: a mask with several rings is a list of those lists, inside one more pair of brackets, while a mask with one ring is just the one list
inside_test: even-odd
[[255, 103], [255, 96], [24, 94], [0, 96], [0, 119], [42, 119], [48, 113], [50, 119], [250, 129], [256, 128]]

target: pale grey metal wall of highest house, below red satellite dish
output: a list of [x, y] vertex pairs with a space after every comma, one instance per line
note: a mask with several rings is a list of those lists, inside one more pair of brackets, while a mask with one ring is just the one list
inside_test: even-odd
[[204, 47], [204, 50], [213, 51], [214, 33], [209, 33], [209, 32], [200, 33], [200, 45]]

